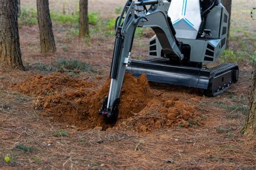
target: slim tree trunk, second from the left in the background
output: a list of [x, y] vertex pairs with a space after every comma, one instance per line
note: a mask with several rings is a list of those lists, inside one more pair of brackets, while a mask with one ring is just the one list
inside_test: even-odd
[[37, 18], [40, 32], [41, 52], [56, 52], [49, 0], [37, 0]]

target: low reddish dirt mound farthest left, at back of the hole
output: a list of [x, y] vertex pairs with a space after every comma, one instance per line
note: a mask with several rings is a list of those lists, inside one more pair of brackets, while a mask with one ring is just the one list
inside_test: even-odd
[[23, 83], [15, 85], [13, 90], [18, 90], [30, 96], [47, 96], [63, 91], [65, 88], [77, 89], [92, 86], [95, 86], [95, 83], [79, 80], [67, 74], [56, 72], [46, 77], [38, 74], [35, 77], [26, 78]]

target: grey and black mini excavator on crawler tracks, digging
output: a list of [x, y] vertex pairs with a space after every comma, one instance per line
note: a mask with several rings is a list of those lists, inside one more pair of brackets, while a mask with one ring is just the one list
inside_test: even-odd
[[[228, 12], [221, 0], [128, 0], [116, 19], [116, 42], [111, 84], [99, 110], [106, 119], [116, 117], [125, 72], [149, 81], [195, 87], [209, 97], [237, 83], [237, 64], [207, 69], [226, 48]], [[131, 60], [136, 28], [151, 28], [149, 60]]]

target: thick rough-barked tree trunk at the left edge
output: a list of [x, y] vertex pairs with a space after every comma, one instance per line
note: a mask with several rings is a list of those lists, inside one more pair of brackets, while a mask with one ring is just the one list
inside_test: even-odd
[[19, 47], [17, 0], [0, 1], [0, 63], [25, 70]]

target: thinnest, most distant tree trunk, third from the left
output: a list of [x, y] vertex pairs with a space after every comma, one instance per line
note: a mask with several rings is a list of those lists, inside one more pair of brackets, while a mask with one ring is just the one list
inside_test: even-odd
[[88, 0], [79, 1], [79, 38], [89, 35]]

